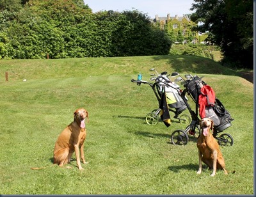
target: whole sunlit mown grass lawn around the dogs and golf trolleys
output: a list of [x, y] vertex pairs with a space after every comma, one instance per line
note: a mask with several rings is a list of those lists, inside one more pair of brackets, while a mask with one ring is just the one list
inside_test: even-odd
[[[214, 88], [235, 119], [223, 131], [234, 145], [221, 146], [228, 175], [218, 171], [211, 177], [205, 166], [196, 175], [195, 139], [186, 146], [170, 144], [172, 132], [186, 125], [145, 123], [157, 100], [150, 86], [136, 86], [131, 79], [138, 72], [149, 79], [152, 67], [204, 75]], [[9, 72], [8, 82], [4, 72]], [[0, 84], [1, 194], [253, 194], [253, 84], [210, 59], [1, 61]], [[51, 166], [54, 143], [78, 107], [89, 112], [84, 146], [89, 164], [83, 171], [76, 161], [68, 164], [71, 169]], [[50, 167], [30, 169], [42, 166]]]

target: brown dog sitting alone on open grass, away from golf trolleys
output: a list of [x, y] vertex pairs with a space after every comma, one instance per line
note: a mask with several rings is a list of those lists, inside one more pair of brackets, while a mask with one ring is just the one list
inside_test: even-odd
[[86, 138], [85, 119], [88, 118], [88, 111], [77, 109], [74, 112], [74, 122], [70, 123], [58, 137], [54, 146], [54, 164], [63, 166], [70, 162], [73, 152], [76, 154], [76, 162], [79, 169], [83, 169], [79, 157], [84, 164], [84, 139]]

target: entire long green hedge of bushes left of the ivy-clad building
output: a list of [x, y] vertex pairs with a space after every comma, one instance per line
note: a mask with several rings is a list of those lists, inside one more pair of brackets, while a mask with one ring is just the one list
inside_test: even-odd
[[[170, 40], [138, 10], [92, 13], [82, 0], [0, 4], [1, 59], [168, 54]], [[19, 8], [19, 9], [18, 9]]]

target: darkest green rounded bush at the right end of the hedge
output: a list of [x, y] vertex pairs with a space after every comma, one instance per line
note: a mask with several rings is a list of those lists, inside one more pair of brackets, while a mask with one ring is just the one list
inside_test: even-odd
[[[122, 35], [122, 47], [119, 49], [124, 56], [147, 56], [168, 54], [171, 41], [164, 30], [154, 26], [147, 15], [138, 10], [122, 13], [125, 23]], [[120, 26], [121, 30], [122, 26]], [[117, 31], [116, 35], [118, 34]], [[125, 39], [124, 39], [125, 38]]]

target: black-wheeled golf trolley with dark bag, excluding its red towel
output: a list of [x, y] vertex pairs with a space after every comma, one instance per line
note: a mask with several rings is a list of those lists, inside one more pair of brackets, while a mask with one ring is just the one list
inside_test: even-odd
[[[177, 79], [175, 79], [176, 82], [181, 81], [181, 84], [184, 86], [184, 90], [182, 91], [180, 97], [184, 100], [184, 103], [186, 104], [189, 113], [191, 114], [192, 121], [186, 127], [185, 130], [175, 130], [172, 135], [170, 142], [173, 145], [186, 145], [189, 140], [189, 136], [194, 136], [195, 138], [198, 138], [200, 135], [200, 119], [198, 118], [198, 102], [199, 102], [199, 95], [201, 93], [201, 88], [205, 87], [207, 84], [202, 81], [202, 77], [198, 77], [195, 75], [194, 77], [191, 74], [185, 75], [186, 79], [183, 79], [180, 77], [179, 73], [173, 72], [172, 77], [179, 76]], [[209, 86], [207, 86], [209, 87]], [[191, 97], [191, 99], [196, 104], [196, 112], [189, 107], [188, 101], [186, 99], [186, 93]], [[234, 119], [231, 118], [230, 113], [225, 109], [223, 104], [221, 104], [220, 100], [215, 98], [214, 104], [212, 106], [205, 107], [205, 113], [208, 118], [211, 118], [214, 122], [214, 129], [213, 129], [213, 136], [215, 139], [218, 140], [218, 143], [220, 145], [224, 146], [232, 146], [234, 143], [234, 139], [230, 134], [221, 134], [220, 137], [218, 136], [219, 132], [222, 132], [223, 130], [227, 129], [231, 126], [231, 121]], [[204, 118], [204, 117], [203, 117]]]

